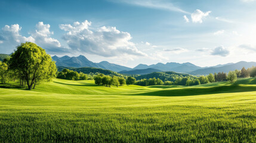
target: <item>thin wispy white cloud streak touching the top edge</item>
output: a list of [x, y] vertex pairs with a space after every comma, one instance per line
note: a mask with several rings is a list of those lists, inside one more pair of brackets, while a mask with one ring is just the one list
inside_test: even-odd
[[[112, 1], [116, 2], [114, 0]], [[140, 7], [155, 8], [160, 10], [176, 11], [180, 13], [189, 14], [187, 11], [181, 10], [181, 8], [174, 6], [171, 2], [163, 0], [121, 0], [118, 2], [124, 2], [131, 5], [137, 5]]]

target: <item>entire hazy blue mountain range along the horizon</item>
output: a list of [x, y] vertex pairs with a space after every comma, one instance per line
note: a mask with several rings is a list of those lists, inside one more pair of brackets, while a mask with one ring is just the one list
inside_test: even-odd
[[130, 67], [120, 66], [118, 64], [112, 64], [107, 61], [101, 61], [100, 63], [94, 63], [88, 60], [83, 55], [78, 57], [69, 57], [67, 55], [63, 57], [57, 57], [54, 55], [53, 60], [56, 61], [57, 66], [62, 67], [96, 67], [106, 70], [112, 70], [123, 74], [149, 74], [156, 71], [175, 71], [178, 73], [189, 73], [194, 75], [209, 74], [218, 72], [229, 72], [230, 70], [240, 70], [242, 67], [246, 69], [252, 66], [256, 66], [255, 62], [240, 61], [238, 63], [218, 64], [212, 67], [199, 67], [192, 63], [158, 63], [152, 65], [138, 64], [133, 69]]

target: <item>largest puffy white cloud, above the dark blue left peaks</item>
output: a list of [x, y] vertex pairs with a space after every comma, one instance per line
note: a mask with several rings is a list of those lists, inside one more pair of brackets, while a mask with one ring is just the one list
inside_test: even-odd
[[115, 57], [124, 54], [146, 56], [131, 42], [128, 32], [121, 32], [116, 27], [100, 27], [92, 29], [91, 22], [60, 24], [60, 29], [66, 31], [63, 39], [69, 48], [78, 52]]

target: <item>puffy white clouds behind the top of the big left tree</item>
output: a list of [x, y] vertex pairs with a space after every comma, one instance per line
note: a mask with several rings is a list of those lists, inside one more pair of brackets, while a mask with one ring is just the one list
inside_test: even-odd
[[57, 39], [51, 38], [53, 32], [50, 31], [50, 24], [44, 24], [39, 22], [36, 24], [36, 30], [29, 33], [30, 36], [20, 35], [21, 27], [18, 24], [13, 24], [11, 26], [4, 26], [0, 31], [0, 48], [6, 53], [10, 53], [15, 49], [17, 45], [24, 42], [34, 42], [38, 46], [46, 49], [47, 52], [61, 52], [61, 44]]

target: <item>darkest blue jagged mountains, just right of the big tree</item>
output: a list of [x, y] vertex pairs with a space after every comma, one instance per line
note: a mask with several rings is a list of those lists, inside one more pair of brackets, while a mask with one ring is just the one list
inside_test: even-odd
[[93, 63], [92, 61], [88, 60], [84, 55], [79, 55], [78, 57], [69, 57], [67, 55], [63, 57], [57, 57], [54, 55], [53, 60], [56, 61], [57, 66], [63, 67], [96, 67], [106, 70], [113, 70], [113, 71], [122, 71], [122, 70], [132, 70], [129, 67], [119, 66], [118, 64], [112, 64], [107, 61], [101, 61], [100, 63]]

